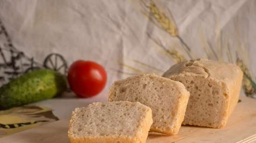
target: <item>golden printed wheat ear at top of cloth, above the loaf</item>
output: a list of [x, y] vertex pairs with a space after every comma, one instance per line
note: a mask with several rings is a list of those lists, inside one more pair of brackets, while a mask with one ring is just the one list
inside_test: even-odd
[[[179, 36], [178, 29], [175, 25], [175, 22], [172, 21], [171, 19], [168, 19], [168, 17], [159, 10], [159, 8], [155, 5], [155, 2], [153, 0], [150, 0], [150, 4], [147, 5], [141, 0], [142, 4], [149, 9], [149, 11], [145, 10], [148, 12], [148, 18], [151, 22], [153, 22], [157, 27], [162, 29], [163, 31], [166, 31], [170, 36], [172, 37], [177, 37], [180, 42], [185, 46], [183, 48], [185, 52], [188, 54], [190, 59], [193, 59], [193, 57], [190, 54], [190, 48], [189, 46], [185, 43], [185, 41]], [[171, 15], [171, 12], [169, 12]], [[154, 21], [155, 19], [155, 21]]]

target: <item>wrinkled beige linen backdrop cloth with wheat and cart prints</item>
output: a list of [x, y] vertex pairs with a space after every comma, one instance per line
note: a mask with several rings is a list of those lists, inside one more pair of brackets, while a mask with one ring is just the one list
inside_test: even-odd
[[115, 80], [205, 57], [238, 64], [254, 96], [256, 0], [0, 0], [0, 22], [1, 84], [57, 53], [103, 65], [107, 100]]

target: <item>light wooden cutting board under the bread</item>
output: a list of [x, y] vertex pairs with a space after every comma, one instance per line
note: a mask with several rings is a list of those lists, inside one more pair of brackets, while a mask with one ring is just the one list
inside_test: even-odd
[[[256, 143], [256, 99], [241, 97], [226, 127], [182, 126], [178, 135], [149, 133], [147, 143]], [[0, 143], [69, 143], [68, 120], [0, 138]]]

